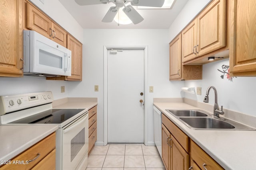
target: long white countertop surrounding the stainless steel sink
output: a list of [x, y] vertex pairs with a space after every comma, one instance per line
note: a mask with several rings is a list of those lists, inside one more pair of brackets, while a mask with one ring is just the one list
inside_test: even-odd
[[256, 131], [192, 130], [165, 109], [200, 109], [182, 102], [154, 102], [164, 115], [173, 121], [225, 170], [256, 170]]

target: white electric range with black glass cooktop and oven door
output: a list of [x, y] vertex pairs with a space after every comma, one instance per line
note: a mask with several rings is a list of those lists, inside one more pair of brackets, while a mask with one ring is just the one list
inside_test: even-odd
[[56, 170], [86, 169], [88, 109], [53, 109], [52, 92], [0, 96], [0, 125], [58, 125]]

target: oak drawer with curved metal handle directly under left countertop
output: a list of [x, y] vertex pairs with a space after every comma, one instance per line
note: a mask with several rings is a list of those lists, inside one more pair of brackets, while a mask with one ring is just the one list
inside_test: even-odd
[[[27, 170], [32, 168], [44, 157], [46, 157], [46, 155], [48, 155], [52, 150], [55, 149], [55, 139], [56, 137], [54, 132], [11, 160], [12, 162], [24, 161], [24, 164], [6, 164], [2, 166], [0, 170]], [[34, 159], [38, 153], [40, 153], [40, 156], [38, 156], [38, 158], [26, 164], [26, 160]]]

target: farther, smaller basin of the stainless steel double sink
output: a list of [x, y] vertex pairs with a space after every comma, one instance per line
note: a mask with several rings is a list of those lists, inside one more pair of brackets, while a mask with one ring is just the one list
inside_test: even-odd
[[174, 114], [179, 117], [205, 117], [207, 116], [205, 113], [202, 113], [201, 111], [198, 110], [170, 110], [167, 109], [171, 114]]

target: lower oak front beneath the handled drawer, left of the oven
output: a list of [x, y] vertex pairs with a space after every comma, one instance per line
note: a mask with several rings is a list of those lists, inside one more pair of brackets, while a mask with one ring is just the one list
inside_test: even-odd
[[55, 170], [56, 149], [52, 150], [43, 160], [41, 160], [31, 170]]

